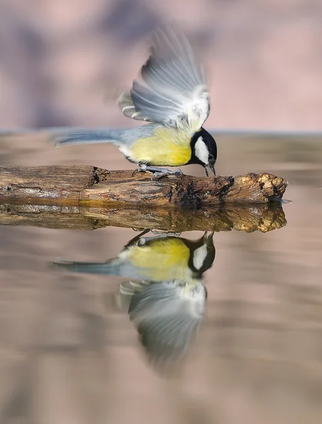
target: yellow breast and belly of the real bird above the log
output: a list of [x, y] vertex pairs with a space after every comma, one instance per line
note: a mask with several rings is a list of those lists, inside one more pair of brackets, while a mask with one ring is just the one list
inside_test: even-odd
[[155, 129], [152, 136], [131, 146], [131, 159], [155, 166], [186, 165], [191, 159], [191, 137], [167, 127]]

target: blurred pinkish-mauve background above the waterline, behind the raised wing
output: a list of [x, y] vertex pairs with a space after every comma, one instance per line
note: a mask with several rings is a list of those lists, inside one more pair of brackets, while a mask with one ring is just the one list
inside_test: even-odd
[[208, 128], [321, 129], [319, 0], [1, 0], [1, 126], [139, 124], [115, 100], [162, 20], [205, 62]]

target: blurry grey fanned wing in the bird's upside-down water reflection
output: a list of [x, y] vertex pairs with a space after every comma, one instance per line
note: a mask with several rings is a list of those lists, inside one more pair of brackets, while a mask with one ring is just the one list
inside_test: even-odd
[[150, 361], [162, 367], [186, 355], [205, 312], [206, 290], [200, 280], [150, 283], [131, 299], [136, 324]]

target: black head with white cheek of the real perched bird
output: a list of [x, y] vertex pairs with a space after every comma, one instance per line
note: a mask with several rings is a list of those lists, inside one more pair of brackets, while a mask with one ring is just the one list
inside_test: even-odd
[[193, 134], [191, 138], [191, 159], [189, 163], [198, 163], [203, 165], [205, 173], [208, 175], [208, 170], [215, 173], [215, 163], [217, 159], [217, 144], [213, 136], [208, 131], [201, 128], [200, 131]]

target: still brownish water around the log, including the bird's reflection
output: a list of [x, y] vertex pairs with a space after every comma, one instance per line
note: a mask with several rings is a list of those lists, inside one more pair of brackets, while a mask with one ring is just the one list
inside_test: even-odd
[[[0, 205], [1, 424], [322, 422], [322, 136], [215, 138], [221, 175], [289, 182], [251, 232], [38, 228]], [[133, 167], [0, 141], [1, 165]]]

